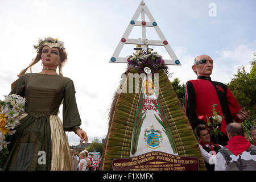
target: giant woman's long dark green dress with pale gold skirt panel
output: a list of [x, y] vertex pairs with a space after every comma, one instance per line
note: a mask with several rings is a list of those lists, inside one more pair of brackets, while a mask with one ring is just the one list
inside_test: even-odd
[[[69, 170], [71, 159], [64, 131], [81, 125], [75, 87], [68, 77], [27, 73], [10, 94], [26, 98], [27, 115], [10, 136], [5, 170]], [[57, 113], [63, 101], [63, 123]]]

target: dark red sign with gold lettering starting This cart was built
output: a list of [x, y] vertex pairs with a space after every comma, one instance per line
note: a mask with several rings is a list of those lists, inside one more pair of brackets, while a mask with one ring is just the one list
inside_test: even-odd
[[155, 151], [132, 158], [114, 159], [112, 168], [114, 171], [198, 171], [199, 159]]

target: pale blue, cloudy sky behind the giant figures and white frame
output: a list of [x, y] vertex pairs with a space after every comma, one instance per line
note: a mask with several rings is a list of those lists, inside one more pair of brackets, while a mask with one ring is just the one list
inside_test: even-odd
[[[141, 0], [47, 1], [0, 0], [0, 99], [10, 92], [16, 75], [31, 62], [36, 52], [32, 48], [39, 38], [52, 36], [65, 43], [68, 62], [64, 76], [76, 86], [77, 105], [82, 129], [100, 140], [106, 136], [108, 109], [117, 89], [125, 64], [112, 64], [112, 56]], [[181, 61], [181, 66], [169, 66], [173, 80], [195, 79], [191, 65], [200, 54], [214, 60], [212, 78], [230, 82], [237, 68], [249, 71], [256, 52], [256, 1], [254, 0], [144, 0], [168, 43]], [[209, 4], [217, 7], [216, 16], [209, 16]], [[153, 30], [148, 38], [156, 39]], [[132, 38], [141, 38], [134, 28]], [[126, 47], [123, 56], [133, 53]], [[163, 48], [156, 48], [168, 56]], [[61, 108], [60, 108], [61, 111]], [[61, 118], [61, 113], [60, 113]], [[69, 133], [69, 143], [79, 138]]]

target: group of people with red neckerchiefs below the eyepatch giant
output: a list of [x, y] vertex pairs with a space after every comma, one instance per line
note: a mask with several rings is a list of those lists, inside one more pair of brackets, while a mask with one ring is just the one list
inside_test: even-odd
[[245, 138], [240, 123], [229, 123], [226, 129], [228, 144], [221, 146], [210, 140], [209, 128], [199, 125], [195, 134], [208, 171], [255, 171], [256, 170], [256, 126], [250, 129], [254, 143]]

